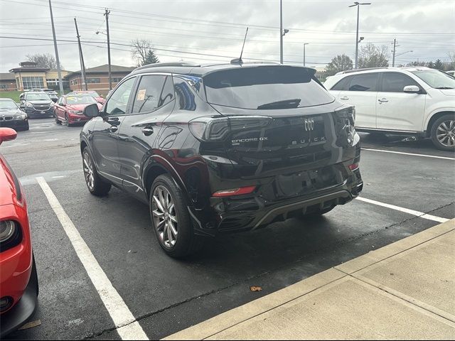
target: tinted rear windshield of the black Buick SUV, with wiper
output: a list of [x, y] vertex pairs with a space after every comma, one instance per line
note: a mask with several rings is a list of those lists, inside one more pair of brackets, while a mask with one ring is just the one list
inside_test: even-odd
[[313, 70], [259, 66], [220, 70], [203, 77], [207, 102], [242, 109], [289, 109], [333, 102]]

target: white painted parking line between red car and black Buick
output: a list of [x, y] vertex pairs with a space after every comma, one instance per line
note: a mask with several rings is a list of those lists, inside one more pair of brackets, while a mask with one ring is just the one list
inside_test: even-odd
[[102, 303], [104, 303], [109, 315], [114, 321], [114, 325], [117, 327], [117, 332], [122, 337], [122, 340], [149, 340], [144, 330], [142, 330], [141, 325], [135, 320], [134, 315], [124, 303], [122, 297], [120, 297], [117, 290], [112, 286], [105, 271], [101, 269], [100, 264], [98, 264], [87, 244], [85, 244], [84, 239], [80, 236], [70, 217], [63, 210], [62, 205], [58, 202], [48, 183], [45, 182], [43, 177], [36, 178], [36, 181], [41, 186], [50, 207], [52, 207], [55, 215], [57, 215], [71, 244], [73, 244], [77, 256], [84, 266], [85, 271], [87, 271], [93, 286], [97, 289]]

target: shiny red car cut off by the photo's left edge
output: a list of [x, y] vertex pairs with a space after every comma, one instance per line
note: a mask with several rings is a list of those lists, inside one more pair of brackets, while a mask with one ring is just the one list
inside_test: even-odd
[[[16, 131], [0, 128], [0, 144]], [[38, 304], [38, 276], [27, 204], [16, 175], [0, 154], [0, 338], [21, 327]]]

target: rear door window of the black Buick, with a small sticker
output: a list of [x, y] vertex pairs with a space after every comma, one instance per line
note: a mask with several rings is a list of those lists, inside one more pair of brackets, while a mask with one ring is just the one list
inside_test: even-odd
[[134, 97], [133, 112], [153, 112], [171, 102], [173, 96], [172, 77], [166, 75], [142, 76]]

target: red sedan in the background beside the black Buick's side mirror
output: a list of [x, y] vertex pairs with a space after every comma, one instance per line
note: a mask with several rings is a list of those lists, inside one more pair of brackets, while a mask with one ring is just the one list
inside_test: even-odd
[[65, 123], [67, 126], [83, 123], [90, 120], [82, 114], [87, 105], [97, 104], [98, 109], [101, 109], [102, 104], [97, 102], [92, 96], [87, 94], [67, 94], [58, 99], [54, 106], [55, 123]]

